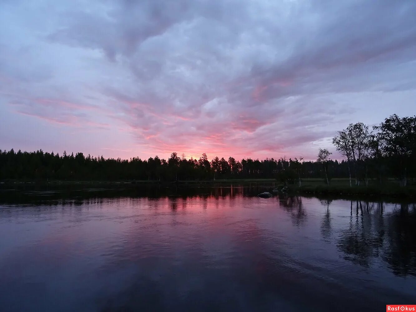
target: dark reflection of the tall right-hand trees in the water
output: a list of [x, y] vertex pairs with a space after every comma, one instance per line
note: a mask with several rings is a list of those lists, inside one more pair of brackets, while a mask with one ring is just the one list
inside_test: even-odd
[[[415, 205], [396, 205], [389, 213], [384, 203], [351, 201], [348, 227], [337, 247], [344, 259], [368, 267], [375, 258], [388, 263], [395, 275], [416, 275]], [[322, 221], [322, 236], [330, 229], [329, 205]]]

